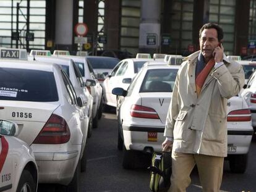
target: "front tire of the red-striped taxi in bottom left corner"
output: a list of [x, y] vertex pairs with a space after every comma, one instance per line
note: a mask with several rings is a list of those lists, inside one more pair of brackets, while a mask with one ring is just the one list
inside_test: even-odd
[[33, 180], [31, 173], [28, 170], [23, 170], [22, 175], [20, 176], [20, 181], [17, 187], [17, 192], [35, 192], [36, 191], [36, 182]]

